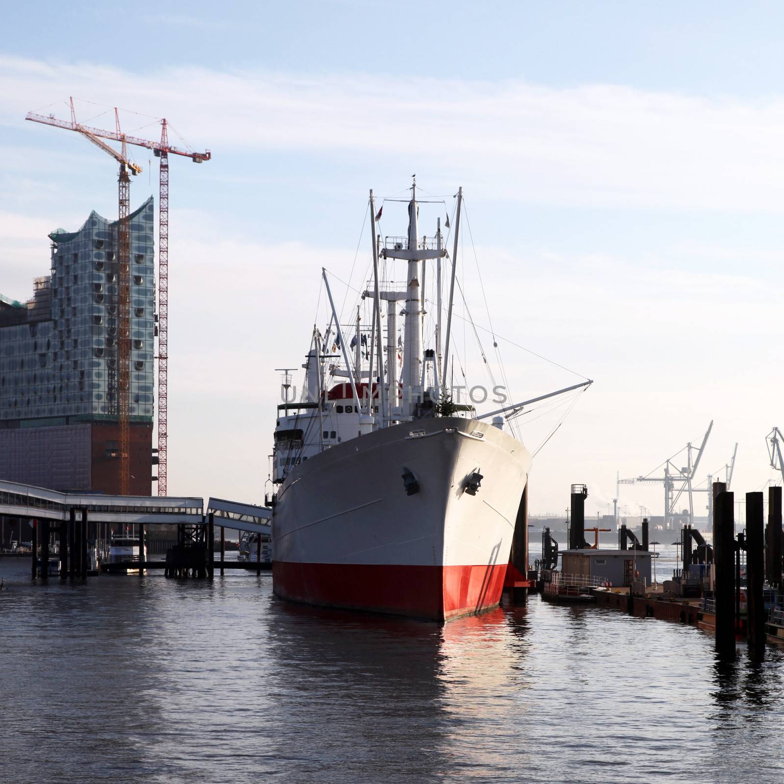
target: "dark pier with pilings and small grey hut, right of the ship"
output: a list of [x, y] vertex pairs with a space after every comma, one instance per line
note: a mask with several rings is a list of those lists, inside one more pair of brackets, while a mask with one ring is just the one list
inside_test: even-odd
[[[764, 658], [768, 642], [784, 642], [782, 597], [782, 488], [746, 493], [746, 528], [735, 531], [735, 494], [723, 482], [711, 488], [713, 545], [691, 524], [681, 530], [681, 567], [672, 579], [652, 583], [648, 521], [642, 541], [619, 526], [619, 549], [600, 550], [586, 543], [583, 503], [587, 491], [572, 485], [569, 549], [559, 553], [549, 528], [543, 528], [543, 560], [536, 588], [551, 601], [583, 602], [627, 612], [638, 618], [680, 622], [715, 636], [717, 654], [734, 659], [736, 643], [746, 639], [750, 658]], [[557, 559], [561, 557], [561, 571]], [[746, 574], [742, 579], [742, 559]]]

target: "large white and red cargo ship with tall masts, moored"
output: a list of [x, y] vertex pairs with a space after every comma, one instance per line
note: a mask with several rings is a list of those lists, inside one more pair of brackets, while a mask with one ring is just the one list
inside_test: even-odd
[[[323, 335], [314, 328], [303, 394], [278, 405], [274, 431], [273, 583], [282, 599], [433, 621], [499, 604], [532, 462], [505, 415], [590, 381], [481, 415], [441, 383], [451, 369], [462, 189], [456, 199], [445, 307], [441, 220], [431, 238], [419, 237], [416, 180], [407, 235], [383, 243], [371, 191], [373, 277], [364, 297], [372, 324], [363, 330], [358, 315], [350, 344], [322, 270], [331, 319]], [[402, 260], [405, 285], [383, 283], [380, 260]], [[436, 316], [426, 348], [427, 271]], [[286, 371], [283, 387], [290, 382]]]

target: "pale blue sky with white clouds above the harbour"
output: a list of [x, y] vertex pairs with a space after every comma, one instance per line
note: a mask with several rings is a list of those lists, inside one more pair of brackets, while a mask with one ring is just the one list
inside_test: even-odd
[[[414, 172], [444, 201], [423, 205], [426, 233], [463, 187], [466, 302], [501, 338], [513, 396], [595, 382], [562, 422], [568, 406], [521, 421], [532, 452], [549, 437], [533, 514], [564, 510], [577, 482], [586, 512], [606, 514], [616, 472], [656, 475], [711, 420], [701, 474], [737, 441], [737, 498], [777, 477], [764, 439], [784, 426], [781, 4], [28, 2], [4, 15], [6, 296], [45, 274], [49, 231], [117, 209], [111, 159], [27, 111], [68, 118], [74, 96], [87, 125], [111, 128], [117, 106], [126, 132], [157, 138], [166, 117], [172, 143], [212, 151], [171, 167], [170, 493], [262, 499], [275, 368], [301, 364], [325, 318], [321, 267], [349, 318], [340, 281], [363, 285], [368, 189], [399, 198]], [[132, 204], [157, 201], [156, 162], [134, 154]], [[405, 234], [401, 206], [385, 206], [384, 232]], [[619, 503], [661, 514], [661, 496], [622, 485]]]

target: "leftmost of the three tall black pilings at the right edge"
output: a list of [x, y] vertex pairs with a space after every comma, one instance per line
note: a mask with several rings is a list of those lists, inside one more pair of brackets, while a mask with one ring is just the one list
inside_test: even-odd
[[735, 494], [713, 485], [713, 566], [716, 570], [716, 651], [735, 659]]

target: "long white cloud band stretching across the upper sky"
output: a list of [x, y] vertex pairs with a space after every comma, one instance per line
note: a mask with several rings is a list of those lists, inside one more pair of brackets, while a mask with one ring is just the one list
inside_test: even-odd
[[[141, 73], [9, 56], [0, 69], [5, 125], [76, 94], [165, 115], [216, 156], [278, 149], [417, 160], [426, 151], [434, 169], [459, 169], [474, 193], [492, 183], [495, 194], [539, 204], [765, 212], [784, 205], [784, 181], [771, 176], [784, 162], [779, 97], [195, 66]], [[85, 120], [104, 108], [78, 107]], [[64, 103], [52, 111], [67, 116]], [[124, 122], [130, 131], [151, 120], [125, 114]]]

